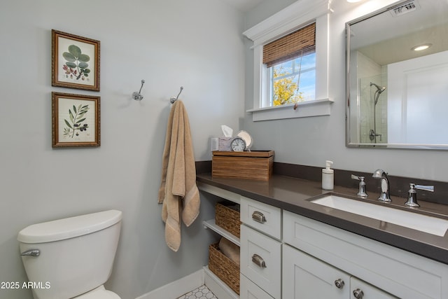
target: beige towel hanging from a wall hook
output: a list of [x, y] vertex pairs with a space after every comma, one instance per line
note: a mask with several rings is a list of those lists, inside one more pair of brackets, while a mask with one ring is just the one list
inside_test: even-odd
[[165, 222], [165, 241], [170, 249], [181, 246], [181, 218], [190, 226], [199, 215], [200, 196], [188, 114], [180, 100], [169, 113], [167, 137], [162, 156], [162, 181], [158, 202]]

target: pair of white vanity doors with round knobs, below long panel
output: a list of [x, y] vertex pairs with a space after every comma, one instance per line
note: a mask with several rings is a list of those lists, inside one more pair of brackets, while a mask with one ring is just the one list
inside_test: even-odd
[[283, 245], [283, 298], [397, 298], [291, 246]]

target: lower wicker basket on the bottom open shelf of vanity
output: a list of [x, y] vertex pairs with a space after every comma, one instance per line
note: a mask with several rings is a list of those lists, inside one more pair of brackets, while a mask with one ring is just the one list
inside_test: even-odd
[[209, 269], [239, 295], [239, 265], [221, 252], [219, 242], [209, 246]]

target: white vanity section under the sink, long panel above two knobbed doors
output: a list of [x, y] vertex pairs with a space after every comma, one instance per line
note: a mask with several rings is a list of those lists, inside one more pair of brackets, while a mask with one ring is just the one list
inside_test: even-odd
[[[358, 288], [364, 293], [363, 299], [448, 298], [448, 265], [437, 263], [435, 260], [289, 211], [283, 211], [283, 242], [289, 245], [283, 245], [285, 299], [311, 298], [302, 295], [302, 292], [308, 294], [322, 291], [325, 289], [323, 281], [326, 281], [328, 288], [335, 286], [338, 275], [342, 277], [344, 273], [351, 277], [349, 280], [344, 278], [345, 285], [350, 286], [351, 297], [340, 298], [356, 298], [353, 291]], [[306, 253], [309, 256], [304, 258]], [[289, 260], [297, 265], [290, 265]], [[313, 266], [309, 266], [310, 263]], [[325, 265], [328, 267], [324, 267]], [[310, 269], [314, 272], [310, 272]], [[325, 272], [330, 272], [328, 269], [340, 273], [327, 277]], [[304, 274], [305, 272], [307, 274]], [[294, 275], [301, 275], [305, 282], [300, 277], [291, 280], [290, 277]], [[294, 294], [294, 284], [297, 283], [302, 284], [302, 288], [295, 288], [300, 294]], [[372, 293], [374, 295], [371, 295]], [[336, 295], [319, 297], [339, 298]]]

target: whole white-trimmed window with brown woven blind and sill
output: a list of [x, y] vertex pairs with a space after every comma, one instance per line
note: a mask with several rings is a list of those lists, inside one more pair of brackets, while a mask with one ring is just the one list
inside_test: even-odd
[[330, 115], [330, 12], [329, 0], [296, 1], [244, 32], [253, 41], [254, 121]]

